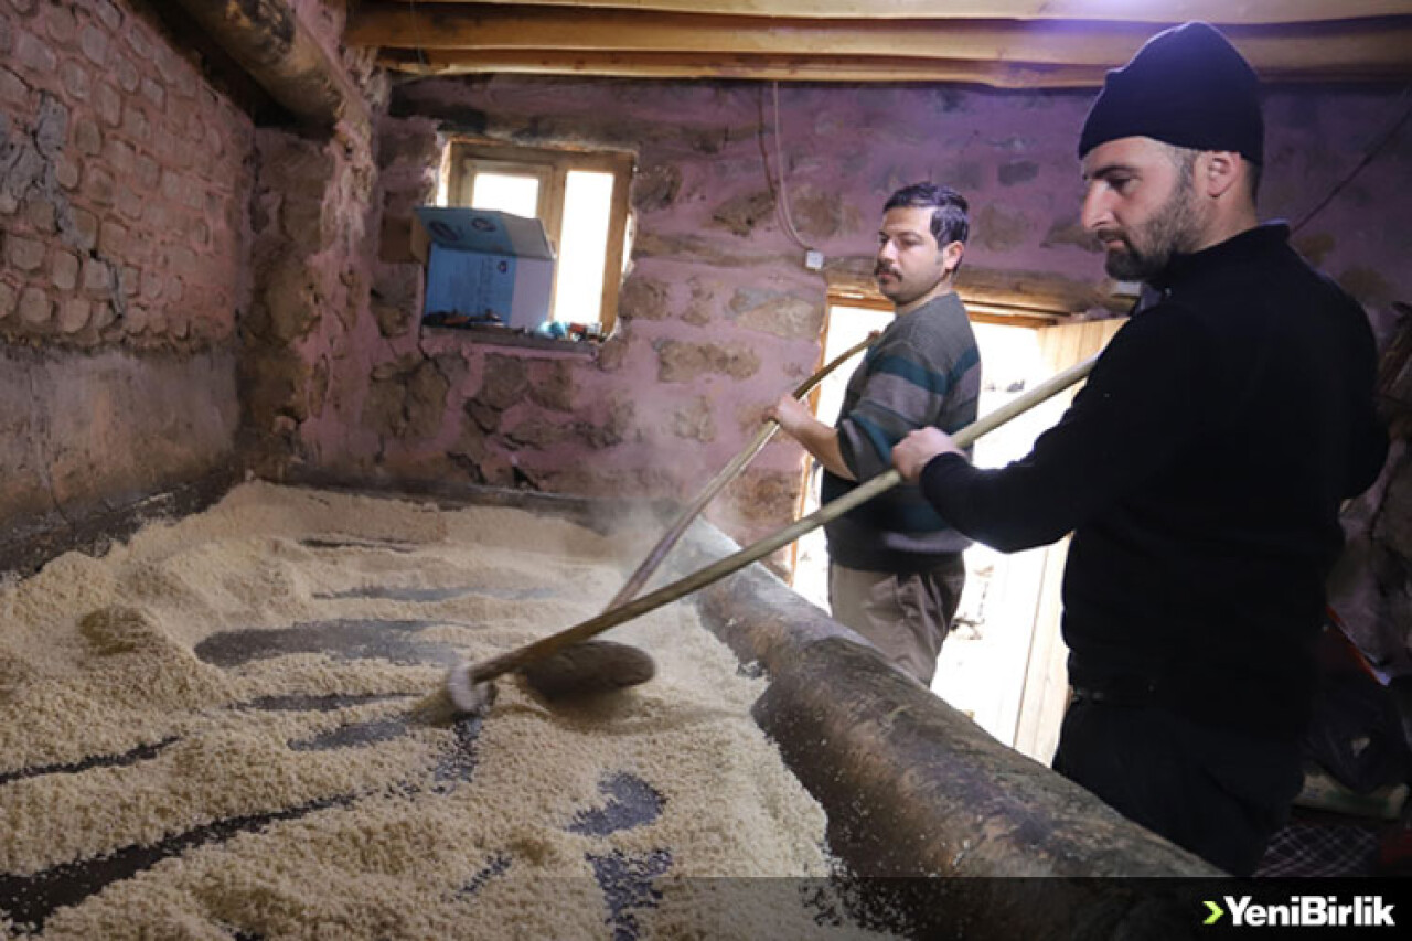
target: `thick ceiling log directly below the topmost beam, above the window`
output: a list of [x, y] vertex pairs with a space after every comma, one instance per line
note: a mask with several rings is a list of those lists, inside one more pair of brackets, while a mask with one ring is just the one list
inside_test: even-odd
[[[973, 20], [771, 20], [585, 8], [436, 7], [367, 3], [349, 23], [353, 45], [460, 51], [679, 52], [781, 57], [890, 57], [1028, 66], [1113, 68], [1151, 34], [1132, 23]], [[1404, 21], [1228, 30], [1262, 73], [1322, 71], [1402, 75], [1412, 71], [1412, 25]]]

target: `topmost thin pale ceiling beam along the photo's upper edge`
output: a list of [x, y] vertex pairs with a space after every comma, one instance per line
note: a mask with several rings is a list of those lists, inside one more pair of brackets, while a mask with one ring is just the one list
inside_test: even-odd
[[[1281, 0], [1279, 3], [1230, 3], [1230, 0], [1168, 0], [1166, 3], [1114, 3], [1113, 0], [417, 0], [419, 6], [462, 7], [572, 7], [609, 10], [658, 10], [665, 13], [719, 13], [736, 17], [785, 17], [801, 20], [1123, 20], [1168, 24], [1206, 20], [1216, 24], [1320, 23], [1412, 14], [1409, 0]], [[943, 16], [942, 16], [943, 14]]]

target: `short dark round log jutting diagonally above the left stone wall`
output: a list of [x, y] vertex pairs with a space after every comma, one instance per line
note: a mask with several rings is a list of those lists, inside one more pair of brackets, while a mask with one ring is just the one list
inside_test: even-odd
[[343, 65], [299, 18], [291, 0], [181, 0], [191, 17], [270, 96], [301, 122], [329, 130], [371, 126]]

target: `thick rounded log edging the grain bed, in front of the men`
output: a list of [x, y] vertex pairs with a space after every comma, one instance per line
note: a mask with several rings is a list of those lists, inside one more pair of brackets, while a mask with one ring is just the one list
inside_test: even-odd
[[[734, 545], [698, 523], [682, 565]], [[829, 812], [829, 845], [867, 876], [1213, 876], [1216, 870], [990, 738], [760, 565], [696, 596], [702, 623], [765, 668], [751, 709]], [[885, 812], [878, 812], [885, 808]], [[1123, 882], [1115, 880], [1115, 882]], [[1097, 911], [1089, 906], [1091, 918]], [[976, 913], [984, 938], [1118, 937], [1043, 906]], [[952, 927], [957, 913], [946, 911]], [[1189, 920], [1189, 916], [1187, 916]], [[1141, 933], [1138, 933], [1141, 934]], [[916, 937], [945, 937], [939, 928]], [[1171, 935], [1151, 923], [1145, 937]]]

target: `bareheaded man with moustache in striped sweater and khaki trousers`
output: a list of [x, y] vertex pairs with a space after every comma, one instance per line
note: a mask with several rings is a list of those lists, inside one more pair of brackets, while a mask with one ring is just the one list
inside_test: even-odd
[[[892, 445], [915, 428], [955, 432], [976, 418], [980, 355], [952, 281], [970, 222], [966, 199], [933, 184], [887, 201], [874, 266], [897, 307], [849, 380], [834, 425], [782, 396], [771, 415], [823, 465], [823, 502], [891, 466]], [[899, 670], [931, 685], [950, 630], [970, 541], [916, 486], [894, 487], [825, 528], [833, 617], [868, 639]]]

